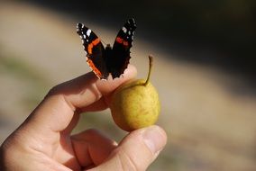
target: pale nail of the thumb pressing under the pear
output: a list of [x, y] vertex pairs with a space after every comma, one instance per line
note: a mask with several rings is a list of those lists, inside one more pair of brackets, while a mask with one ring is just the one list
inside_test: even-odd
[[153, 154], [158, 153], [165, 145], [166, 138], [164, 136], [164, 132], [157, 126], [146, 128], [142, 132], [142, 137], [145, 144], [150, 148]]

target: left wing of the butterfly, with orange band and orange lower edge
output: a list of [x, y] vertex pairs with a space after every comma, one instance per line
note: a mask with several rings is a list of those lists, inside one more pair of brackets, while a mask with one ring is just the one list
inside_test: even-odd
[[105, 48], [96, 36], [83, 23], [77, 24], [77, 32], [83, 41], [83, 46], [87, 52], [87, 64], [92, 68], [96, 76], [100, 79], [106, 79], [109, 71], [105, 62]]

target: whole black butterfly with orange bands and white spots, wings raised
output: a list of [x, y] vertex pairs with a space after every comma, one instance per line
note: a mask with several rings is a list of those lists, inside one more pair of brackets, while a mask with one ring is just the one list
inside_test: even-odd
[[83, 23], [77, 24], [78, 35], [87, 51], [87, 63], [96, 76], [100, 79], [107, 79], [109, 74], [113, 78], [123, 74], [131, 58], [130, 49], [135, 29], [136, 23], [134, 19], [129, 19], [118, 32], [113, 48], [111, 48], [110, 44], [107, 44], [104, 48], [102, 42], [93, 31]]

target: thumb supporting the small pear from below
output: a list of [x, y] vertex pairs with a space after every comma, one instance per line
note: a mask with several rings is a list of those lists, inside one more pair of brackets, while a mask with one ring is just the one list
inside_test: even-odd
[[159, 126], [134, 130], [96, 170], [146, 170], [164, 148], [167, 136]]

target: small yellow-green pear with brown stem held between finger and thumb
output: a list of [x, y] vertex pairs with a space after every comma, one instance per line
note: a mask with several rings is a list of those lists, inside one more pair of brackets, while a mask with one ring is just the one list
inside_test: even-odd
[[160, 114], [160, 100], [156, 88], [151, 85], [152, 57], [149, 56], [148, 77], [128, 81], [113, 94], [110, 110], [114, 122], [122, 130], [132, 131], [154, 124]]

